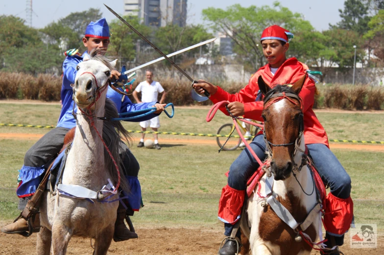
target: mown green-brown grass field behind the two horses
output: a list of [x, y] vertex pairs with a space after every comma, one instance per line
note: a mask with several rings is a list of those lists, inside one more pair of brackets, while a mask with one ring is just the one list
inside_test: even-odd
[[[55, 125], [60, 106], [0, 105], [0, 123]], [[213, 123], [205, 122], [208, 108], [176, 107], [175, 117], [161, 117], [161, 131], [215, 133], [231, 120], [217, 115]], [[331, 139], [383, 140], [381, 123], [384, 113], [326, 113], [318, 117]], [[124, 123], [127, 129], [139, 125]], [[45, 133], [49, 129], [0, 127], [0, 133]], [[139, 137], [140, 134], [135, 134]], [[151, 135], [149, 135], [151, 136]], [[169, 136], [160, 136], [169, 137]], [[202, 139], [188, 137], [191, 139]], [[214, 138], [205, 138], [214, 139]], [[24, 153], [35, 140], [0, 140], [0, 220], [11, 220], [19, 213], [15, 187], [17, 170], [23, 165]], [[163, 144], [161, 150], [137, 148], [132, 151], [141, 164], [144, 208], [132, 217], [143, 225], [205, 226], [216, 228], [217, 205], [221, 188], [226, 184], [224, 173], [240, 150], [217, 153], [217, 146], [199, 144]], [[384, 230], [382, 159], [383, 152], [336, 149], [352, 178], [352, 198], [357, 223], [377, 223]]]

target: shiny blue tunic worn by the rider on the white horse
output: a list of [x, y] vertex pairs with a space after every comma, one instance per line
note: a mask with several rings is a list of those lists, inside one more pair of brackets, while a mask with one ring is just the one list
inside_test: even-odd
[[[74, 84], [74, 78], [76, 77], [76, 65], [83, 61], [83, 57], [88, 55], [87, 52], [84, 52], [83, 55], [77, 56], [68, 56], [63, 63], [63, 84], [61, 86], [61, 102], [63, 107], [60, 112], [60, 117], [57, 122], [57, 127], [66, 127], [72, 128], [76, 126], [76, 120], [73, 118], [73, 100], [72, 100], [72, 87], [71, 84]], [[121, 90], [122, 91], [122, 90]], [[154, 106], [157, 102], [151, 103], [140, 103], [133, 104], [128, 97], [124, 97], [124, 100], [121, 102], [122, 95], [113, 90], [111, 87], [108, 87], [107, 98], [111, 99], [118, 109], [119, 113], [131, 112], [136, 110], [143, 110]], [[77, 106], [74, 106], [76, 113]], [[142, 113], [140, 113], [142, 114]], [[134, 116], [134, 115], [130, 115]], [[150, 120], [153, 117], [158, 116], [158, 114], [149, 114], [142, 118], [136, 120], [130, 120], [131, 122], [141, 122], [145, 120]]]

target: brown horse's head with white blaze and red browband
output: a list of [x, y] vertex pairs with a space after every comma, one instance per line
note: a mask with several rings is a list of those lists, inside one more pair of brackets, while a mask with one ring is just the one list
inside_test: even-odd
[[271, 154], [271, 171], [275, 180], [285, 180], [292, 172], [295, 143], [303, 132], [303, 112], [298, 94], [305, 75], [292, 86], [270, 88], [260, 76], [258, 84], [264, 95], [264, 139]]

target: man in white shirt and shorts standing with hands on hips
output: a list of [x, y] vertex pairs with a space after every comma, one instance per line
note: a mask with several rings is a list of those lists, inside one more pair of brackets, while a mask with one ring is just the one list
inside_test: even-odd
[[[146, 80], [139, 85], [137, 85], [135, 91], [133, 91], [133, 97], [135, 98], [136, 102], [139, 103], [149, 103], [149, 102], [156, 102], [158, 99], [159, 93], [163, 93], [160, 99], [160, 104], [163, 104], [165, 98], [166, 98], [166, 91], [164, 88], [160, 85], [159, 82], [153, 81], [153, 71], [148, 69], [145, 70], [145, 78]], [[142, 92], [142, 100], [139, 100], [138, 93]], [[154, 117], [150, 120], [140, 122], [140, 127], [142, 128], [142, 131], [145, 131], [147, 127], [151, 127], [153, 131], [157, 131], [157, 129], [160, 127], [160, 120], [159, 116]], [[144, 136], [145, 134], [142, 133], [142, 138], [140, 139], [139, 144], [137, 147], [143, 147], [144, 146]], [[155, 138], [155, 148], [161, 149], [157, 134], [153, 134]]]

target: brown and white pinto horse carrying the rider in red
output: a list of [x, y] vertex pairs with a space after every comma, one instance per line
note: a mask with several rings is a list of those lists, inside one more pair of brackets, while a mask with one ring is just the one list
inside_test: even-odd
[[270, 168], [258, 184], [261, 188], [256, 187], [248, 198], [248, 220], [241, 219], [252, 255], [310, 254], [312, 247], [302, 240], [299, 231], [303, 230], [302, 235], [308, 235], [313, 242], [319, 237], [319, 228], [321, 231], [320, 205], [304, 155], [303, 112], [298, 94], [305, 77], [291, 87], [270, 88], [261, 76], [258, 80], [264, 95], [262, 116]]

